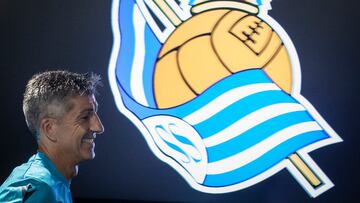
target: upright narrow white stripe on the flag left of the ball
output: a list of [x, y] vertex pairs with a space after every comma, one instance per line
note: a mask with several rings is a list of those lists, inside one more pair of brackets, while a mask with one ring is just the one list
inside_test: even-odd
[[[135, 29], [135, 53], [131, 67], [130, 88], [133, 98], [142, 105], [149, 106], [144, 92], [144, 59], [145, 59], [145, 19], [137, 6], [134, 6], [133, 23]], [[123, 50], [127, 51], [127, 50]]]

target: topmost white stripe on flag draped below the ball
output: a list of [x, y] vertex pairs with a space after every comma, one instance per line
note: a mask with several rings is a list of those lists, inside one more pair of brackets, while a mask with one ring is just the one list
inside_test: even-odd
[[258, 83], [234, 88], [218, 96], [216, 99], [198, 109], [194, 113], [186, 116], [184, 120], [191, 125], [196, 125], [215, 115], [227, 106], [239, 101], [240, 99], [258, 92], [269, 90], [280, 90], [280, 88], [273, 83]]

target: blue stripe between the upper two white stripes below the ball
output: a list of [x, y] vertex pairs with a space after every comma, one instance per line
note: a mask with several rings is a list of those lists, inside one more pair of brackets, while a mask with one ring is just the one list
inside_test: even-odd
[[[233, 103], [194, 127], [203, 138], [207, 138], [256, 110], [278, 103], [298, 102], [280, 90], [259, 92]], [[211, 126], [211, 128], [209, 128], [209, 126]]]

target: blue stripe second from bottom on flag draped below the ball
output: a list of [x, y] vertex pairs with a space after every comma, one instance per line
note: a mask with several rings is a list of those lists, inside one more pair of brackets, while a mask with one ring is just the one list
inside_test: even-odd
[[233, 156], [286, 127], [307, 121], [313, 121], [313, 118], [306, 111], [286, 113], [267, 120], [227, 142], [207, 148], [208, 162]]

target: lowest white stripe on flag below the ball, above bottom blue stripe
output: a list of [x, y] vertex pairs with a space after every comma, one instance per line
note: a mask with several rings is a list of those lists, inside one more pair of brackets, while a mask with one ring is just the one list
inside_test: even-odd
[[297, 135], [317, 130], [321, 130], [321, 127], [314, 121], [290, 126], [245, 151], [229, 158], [209, 163], [207, 174], [221, 174], [235, 170], [258, 159], [279, 144]]

